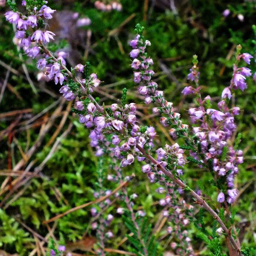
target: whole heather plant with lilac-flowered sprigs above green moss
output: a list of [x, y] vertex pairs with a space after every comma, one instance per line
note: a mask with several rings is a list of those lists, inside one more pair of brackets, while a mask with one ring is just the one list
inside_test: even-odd
[[[122, 90], [121, 104], [114, 103], [107, 108], [99, 103], [99, 99], [93, 97], [93, 90], [100, 88], [101, 81], [96, 73], [90, 73], [90, 63], [78, 64], [69, 70], [66, 67], [65, 52], [49, 50], [47, 43], [54, 39], [54, 33], [44, 29], [44, 19], [50, 19], [55, 10], [46, 4], [38, 2], [35, 5], [23, 1], [23, 6], [28, 12], [23, 15], [17, 11], [14, 3], [9, 3], [12, 11], [6, 13], [6, 19], [16, 26], [15, 37], [19, 39], [26, 55], [38, 58], [37, 67], [44, 73], [44, 79], [61, 84], [60, 92], [64, 99], [75, 100], [73, 112], [78, 114], [79, 122], [90, 130], [90, 145], [95, 148], [95, 154], [100, 159], [96, 184], [98, 191], [95, 192], [95, 197], [101, 198], [111, 194], [103, 187], [104, 179], [119, 183], [129, 181], [131, 177], [125, 177], [121, 168], [132, 166], [134, 161], [143, 162], [142, 172], [151, 183], [158, 184], [157, 192], [164, 194], [159, 204], [164, 207], [163, 214], [170, 221], [167, 232], [174, 239], [171, 247], [177, 254], [195, 254], [187, 230], [189, 223], [194, 221], [198, 236], [207, 244], [211, 255], [225, 255], [227, 250], [230, 255], [249, 255], [250, 248], [242, 250], [239, 244], [232, 212], [232, 204], [238, 195], [234, 179], [239, 171], [238, 165], [243, 162], [243, 156], [242, 151], [238, 149], [241, 136], [237, 136], [234, 145], [230, 142], [236, 130], [234, 116], [240, 111], [238, 107], [230, 106], [230, 99], [235, 99], [236, 90], [244, 91], [247, 88], [246, 77], [251, 76], [251, 70], [242, 67], [241, 62], [250, 64], [252, 56], [241, 53], [240, 45], [237, 47], [230, 85], [223, 90], [222, 100], [215, 103], [210, 96], [201, 96], [200, 72], [195, 55], [188, 75], [193, 84], [186, 86], [182, 91], [184, 95], [195, 98], [195, 107], [188, 109], [190, 125], [184, 124], [180, 113], [165, 99], [163, 91], [157, 90], [158, 84], [153, 81], [154, 71], [151, 70], [153, 60], [146, 52], [146, 47], [151, 43], [144, 38], [143, 27], [137, 24], [136, 38], [130, 43], [134, 82], [138, 84], [138, 93], [143, 97], [145, 104], [154, 105], [154, 117], [160, 116], [160, 123], [168, 127], [173, 140], [178, 141], [173, 145], [166, 144], [164, 148], [155, 149], [156, 129], [145, 126], [137, 119], [137, 105], [133, 102], [128, 104], [126, 88]], [[84, 75], [83, 78], [79, 78], [78, 74]], [[114, 176], [104, 176], [104, 155], [111, 157], [111, 169], [116, 171]], [[216, 201], [209, 200], [204, 191], [195, 192], [186, 184], [182, 176], [186, 164], [194, 165], [202, 172], [210, 172], [210, 184], [218, 192]], [[205, 209], [215, 219], [212, 230], [207, 230], [203, 221], [196, 221], [205, 213], [202, 210], [199, 214], [196, 213], [189, 193], [198, 205], [196, 208]], [[134, 253], [155, 255], [157, 250], [160, 253], [161, 248], [154, 235], [150, 234], [151, 226], [147, 224], [145, 213], [134, 212], [133, 200], [136, 195], [129, 196], [123, 187], [116, 197], [122, 204], [117, 213], [122, 215], [125, 225], [134, 234], [128, 236]], [[98, 217], [98, 224], [93, 225], [97, 227], [97, 252], [100, 255], [105, 254], [105, 240], [113, 236], [111, 231], [106, 230], [113, 215], [104, 213], [110, 204], [109, 199], [100, 202], [97, 206], [98, 215], [96, 208], [91, 209], [93, 217]], [[142, 234], [146, 234], [145, 237]], [[226, 239], [226, 247], [221, 246], [223, 236]], [[54, 253], [60, 252], [52, 250]]]

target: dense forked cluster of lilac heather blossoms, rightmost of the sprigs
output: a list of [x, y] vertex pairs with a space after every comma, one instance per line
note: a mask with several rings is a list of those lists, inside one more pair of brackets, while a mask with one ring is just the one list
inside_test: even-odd
[[[252, 56], [248, 53], [238, 55], [237, 59], [244, 59], [245, 62], [250, 64]], [[196, 67], [194, 68], [196, 70]], [[188, 76], [188, 79], [195, 80], [194, 76], [198, 77], [198, 73], [194, 72]], [[204, 154], [204, 161], [198, 157], [198, 154], [190, 151], [190, 156], [194, 159], [207, 163], [212, 160], [212, 169], [215, 172], [217, 179], [225, 177], [227, 182], [227, 202], [233, 203], [238, 195], [237, 189], [234, 187], [234, 178], [238, 173], [238, 165], [243, 163], [243, 152], [235, 150], [230, 145], [229, 140], [236, 130], [236, 123], [234, 116], [239, 115], [239, 107], [228, 107], [228, 99], [231, 99], [231, 89], [244, 90], [247, 88], [245, 82], [246, 76], [251, 76], [251, 70], [247, 67], [238, 68], [234, 65], [233, 79], [231, 80], [230, 87], [224, 88], [221, 97], [222, 100], [218, 102], [218, 110], [211, 108], [212, 102], [210, 96], [201, 99], [200, 87], [193, 88], [192, 86], [186, 87], [183, 94], [198, 93], [199, 98], [198, 108], [190, 108], [189, 116], [192, 124], [199, 124], [193, 126], [192, 132], [198, 138], [200, 143], [201, 152]], [[198, 83], [198, 81], [195, 81]], [[202, 166], [201, 166], [202, 167]], [[224, 192], [224, 191], [223, 191]], [[217, 201], [223, 203], [225, 195], [220, 192]]]

